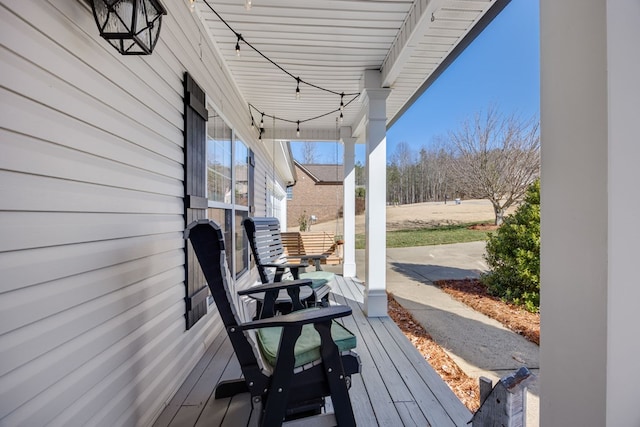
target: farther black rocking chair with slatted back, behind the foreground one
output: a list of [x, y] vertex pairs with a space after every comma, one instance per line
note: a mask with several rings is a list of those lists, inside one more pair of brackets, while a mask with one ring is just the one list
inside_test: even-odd
[[[328, 305], [329, 292], [331, 291], [330, 283], [334, 280], [335, 275], [328, 271], [305, 271], [305, 268], [309, 266], [309, 259], [326, 258], [326, 255], [303, 255], [297, 257], [302, 258], [299, 262], [290, 262], [282, 245], [278, 218], [246, 218], [242, 225], [247, 233], [262, 283], [280, 282], [287, 278], [293, 280], [311, 279], [313, 295], [306, 299], [306, 304]], [[286, 308], [282, 308], [285, 304], [280, 300], [278, 309], [286, 312]]]

